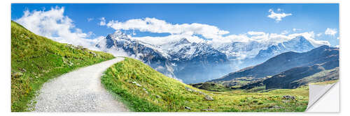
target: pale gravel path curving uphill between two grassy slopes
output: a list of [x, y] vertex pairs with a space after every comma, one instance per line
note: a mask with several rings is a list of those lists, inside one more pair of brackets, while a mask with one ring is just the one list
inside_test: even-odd
[[36, 97], [36, 112], [115, 112], [128, 111], [101, 84], [102, 73], [124, 60], [115, 58], [83, 67], [43, 84]]

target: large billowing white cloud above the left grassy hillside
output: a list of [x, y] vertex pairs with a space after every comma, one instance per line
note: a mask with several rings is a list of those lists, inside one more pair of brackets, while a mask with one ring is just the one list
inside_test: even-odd
[[94, 40], [86, 39], [92, 32], [83, 33], [80, 28], [76, 28], [73, 21], [64, 15], [64, 8], [51, 8], [50, 10], [25, 10], [25, 15], [16, 19], [22, 26], [38, 35], [45, 36], [57, 42], [82, 45], [91, 47]]

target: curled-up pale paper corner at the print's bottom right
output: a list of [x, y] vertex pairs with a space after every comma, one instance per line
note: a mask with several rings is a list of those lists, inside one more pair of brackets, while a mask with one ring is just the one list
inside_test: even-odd
[[[314, 105], [318, 102], [319, 99], [321, 99], [325, 94], [330, 91], [335, 85], [339, 84], [339, 81], [336, 83], [331, 83], [327, 85], [316, 85], [316, 84], [309, 84], [309, 103], [307, 105], [306, 112], [320, 112], [316, 110], [311, 110], [311, 108], [314, 107]], [[328, 111], [325, 111], [328, 112]], [[338, 112], [338, 111], [335, 111]]]

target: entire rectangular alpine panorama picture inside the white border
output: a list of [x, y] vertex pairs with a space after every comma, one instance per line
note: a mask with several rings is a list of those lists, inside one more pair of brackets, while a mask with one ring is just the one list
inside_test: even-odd
[[339, 3], [11, 3], [10, 16], [12, 112], [304, 112], [339, 81]]

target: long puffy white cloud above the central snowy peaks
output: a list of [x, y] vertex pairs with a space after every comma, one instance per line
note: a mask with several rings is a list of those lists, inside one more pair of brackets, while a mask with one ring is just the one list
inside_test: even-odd
[[149, 17], [129, 19], [126, 22], [112, 20], [107, 24], [106, 20], [102, 18], [99, 25], [106, 25], [116, 30], [139, 30], [141, 32], [170, 33], [172, 35], [186, 33], [186, 35], [202, 35], [204, 38], [220, 38], [222, 35], [229, 33], [208, 24], [170, 24], [164, 20]]

